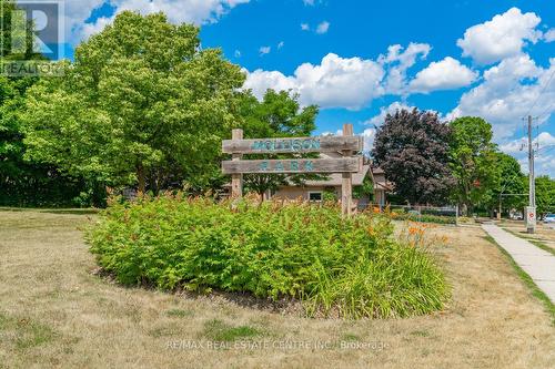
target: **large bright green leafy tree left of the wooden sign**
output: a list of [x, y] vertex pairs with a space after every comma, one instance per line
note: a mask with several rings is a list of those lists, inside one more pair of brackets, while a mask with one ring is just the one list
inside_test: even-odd
[[125, 11], [63, 70], [29, 92], [29, 157], [140, 192], [218, 175], [244, 74], [199, 28]]

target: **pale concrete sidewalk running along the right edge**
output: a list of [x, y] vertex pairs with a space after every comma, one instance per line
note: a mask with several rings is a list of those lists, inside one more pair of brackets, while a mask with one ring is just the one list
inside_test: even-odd
[[482, 225], [485, 232], [503, 247], [537, 287], [555, 303], [555, 255], [527, 240], [516, 237], [494, 224]]

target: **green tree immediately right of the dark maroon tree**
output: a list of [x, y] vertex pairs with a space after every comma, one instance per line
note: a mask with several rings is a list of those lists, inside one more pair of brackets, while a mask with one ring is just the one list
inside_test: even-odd
[[450, 126], [450, 165], [456, 178], [453, 197], [467, 214], [491, 203], [493, 189], [500, 187], [496, 146], [492, 125], [481, 117], [458, 117]]

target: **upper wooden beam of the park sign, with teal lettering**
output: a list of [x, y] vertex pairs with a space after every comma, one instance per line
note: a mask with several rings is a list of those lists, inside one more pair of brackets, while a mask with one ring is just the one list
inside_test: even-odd
[[225, 140], [222, 143], [222, 151], [224, 154], [360, 152], [363, 150], [363, 144], [361, 136]]

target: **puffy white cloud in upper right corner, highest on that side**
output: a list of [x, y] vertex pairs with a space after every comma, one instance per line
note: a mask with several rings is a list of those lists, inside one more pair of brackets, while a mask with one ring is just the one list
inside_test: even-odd
[[490, 21], [468, 28], [457, 45], [463, 49], [464, 57], [490, 64], [518, 54], [526, 41], [537, 42], [542, 37], [536, 30], [541, 21], [535, 13], [523, 14], [518, 8], [511, 8]]

